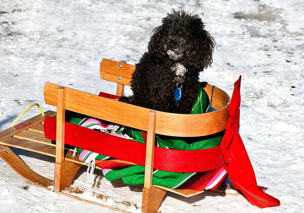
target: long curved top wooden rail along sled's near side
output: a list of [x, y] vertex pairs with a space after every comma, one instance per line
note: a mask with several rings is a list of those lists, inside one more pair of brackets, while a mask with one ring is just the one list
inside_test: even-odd
[[[46, 83], [44, 97], [47, 104], [57, 105], [57, 88], [59, 85]], [[132, 104], [100, 97], [86, 92], [66, 89], [66, 110], [78, 112], [91, 117], [107, 120], [113, 123], [136, 129], [147, 130], [147, 115], [149, 109]], [[226, 97], [226, 93], [219, 94]], [[228, 105], [221, 110], [205, 114], [173, 114], [157, 111], [156, 133], [195, 137], [210, 135], [225, 129]]]

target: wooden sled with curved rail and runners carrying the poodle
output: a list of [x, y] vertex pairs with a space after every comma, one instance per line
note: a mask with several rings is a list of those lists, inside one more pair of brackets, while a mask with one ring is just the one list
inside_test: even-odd
[[[130, 80], [134, 69], [134, 65], [103, 59], [100, 63], [100, 76], [101, 79], [116, 82], [116, 95], [122, 96], [124, 94], [124, 86], [130, 86]], [[142, 189], [142, 212], [156, 212], [167, 191], [185, 197], [191, 197], [203, 192], [188, 189], [170, 189], [152, 185], [153, 168], [155, 168], [156, 165], [162, 164], [162, 159], [160, 159], [157, 154], [159, 150], [155, 148], [154, 141], [156, 134], [190, 137], [210, 135], [224, 130], [228, 117], [227, 107], [230, 102], [230, 97], [224, 91], [216, 87], [212, 88], [212, 86], [207, 85], [205, 90], [209, 97], [212, 95], [213, 108], [217, 109], [216, 112], [182, 115], [153, 111], [107, 97], [89, 94], [52, 83], [46, 83], [44, 87], [45, 101], [47, 104], [57, 107], [57, 112], [47, 111], [45, 113], [46, 116], [37, 115], [0, 132], [0, 156], [20, 176], [34, 185], [111, 209], [127, 212], [117, 207], [107, 206], [75, 196], [77, 193], [81, 194], [82, 191], [70, 187], [70, 184], [80, 166], [86, 164], [81, 162], [78, 157], [72, 157], [72, 150], [65, 147], [65, 144], [71, 143], [69, 142], [70, 138], [68, 136], [70, 135], [68, 129], [69, 124], [65, 123], [65, 110], [147, 131], [147, 143], [146, 145], [142, 144], [145, 149], [142, 160], [143, 165], [145, 165], [144, 187]], [[51, 143], [51, 139], [45, 137], [44, 121], [46, 117], [57, 117], [56, 145]], [[32, 171], [10, 150], [9, 147], [54, 157], [54, 180], [47, 179]], [[81, 148], [86, 149], [87, 147]], [[198, 153], [198, 155], [199, 154], [200, 153]], [[204, 163], [198, 162], [196, 158], [193, 158], [192, 161], [194, 164], [198, 165], [197, 169]], [[220, 164], [220, 161], [223, 160], [220, 159], [217, 161]], [[74, 193], [71, 195], [71, 193], [68, 192]], [[219, 191], [219, 193], [224, 192]], [[239, 193], [236, 192], [231, 195], [238, 194]], [[102, 197], [102, 195], [98, 194], [95, 194], [95, 196]]]

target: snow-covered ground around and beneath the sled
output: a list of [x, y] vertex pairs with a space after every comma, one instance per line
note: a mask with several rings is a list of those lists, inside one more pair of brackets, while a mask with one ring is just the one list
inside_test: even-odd
[[[147, 50], [151, 30], [170, 12], [198, 13], [215, 38], [212, 67], [202, 81], [232, 94], [242, 75], [240, 133], [258, 184], [281, 200], [259, 209], [242, 196], [210, 192], [192, 198], [168, 194], [162, 212], [301, 212], [304, 208], [304, 2], [260, 1], [46, 1], [0, 0], [0, 130], [29, 104], [44, 103], [44, 82], [98, 93], [115, 84], [99, 78], [102, 58], [134, 64]], [[127, 89], [130, 93], [130, 89]], [[39, 111], [30, 110], [28, 119]], [[52, 178], [52, 158], [15, 149], [35, 171]], [[74, 186], [140, 205], [138, 187], [94, 183], [79, 173]], [[99, 186], [99, 188], [97, 188]], [[131, 189], [131, 190], [130, 190]], [[86, 194], [90, 197], [90, 193]], [[106, 200], [112, 203], [111, 199]], [[36, 187], [0, 159], [1, 212], [112, 212]], [[131, 206], [129, 210], [135, 210]]]

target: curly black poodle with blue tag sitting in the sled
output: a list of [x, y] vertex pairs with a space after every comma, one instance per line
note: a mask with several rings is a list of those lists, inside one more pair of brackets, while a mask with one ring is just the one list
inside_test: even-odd
[[170, 113], [191, 113], [199, 73], [212, 63], [214, 39], [198, 15], [172, 10], [153, 30], [132, 75], [133, 96], [120, 101]]

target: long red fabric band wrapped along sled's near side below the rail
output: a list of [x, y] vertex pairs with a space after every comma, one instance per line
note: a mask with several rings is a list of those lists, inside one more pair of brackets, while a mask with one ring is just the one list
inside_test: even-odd
[[[46, 117], [46, 138], [56, 140], [56, 119]], [[145, 165], [146, 145], [65, 122], [65, 144], [112, 158]], [[155, 147], [155, 169], [173, 172], [207, 171], [224, 164], [220, 147], [205, 150], [172, 150]]]

